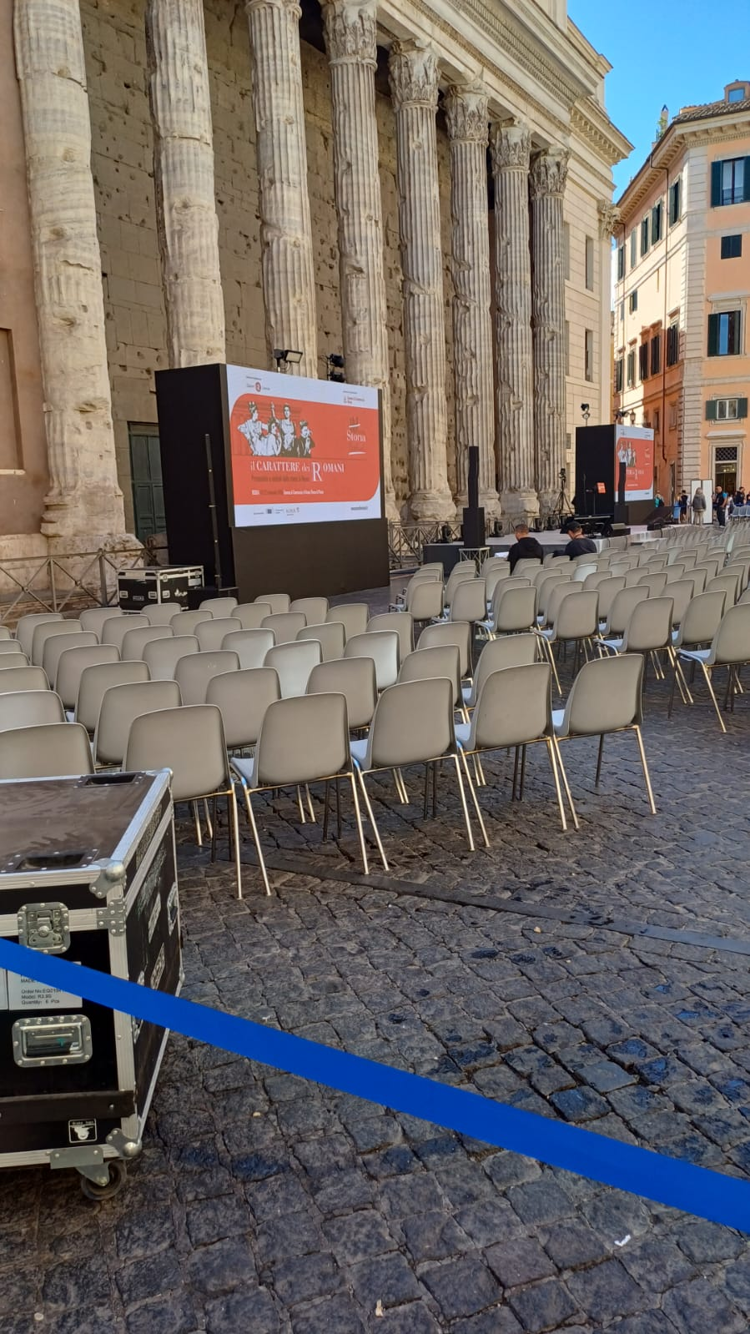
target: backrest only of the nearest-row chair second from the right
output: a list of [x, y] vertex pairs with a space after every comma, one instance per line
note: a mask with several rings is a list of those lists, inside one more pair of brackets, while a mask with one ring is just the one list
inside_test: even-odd
[[551, 731], [548, 663], [491, 672], [471, 716], [470, 748], [523, 746]]

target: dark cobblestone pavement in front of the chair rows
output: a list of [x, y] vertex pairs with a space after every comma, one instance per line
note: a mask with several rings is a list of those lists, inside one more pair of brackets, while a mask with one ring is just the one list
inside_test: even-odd
[[[347, 800], [327, 844], [268, 802], [270, 899], [248, 839], [238, 902], [181, 824], [185, 994], [745, 1175], [750, 694], [726, 738], [699, 699], [667, 723], [649, 686], [657, 818], [623, 736], [599, 791], [595, 747], [566, 748], [567, 835], [540, 748], [522, 803], [486, 766], [474, 856], [450, 775], [436, 820], [419, 774], [410, 807], [374, 782], [392, 867], [370, 879]], [[124, 1194], [0, 1175], [0, 1334], [743, 1334], [750, 1246], [175, 1037]]]

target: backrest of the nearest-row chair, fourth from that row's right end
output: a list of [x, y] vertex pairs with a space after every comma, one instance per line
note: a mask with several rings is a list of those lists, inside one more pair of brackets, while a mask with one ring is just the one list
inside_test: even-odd
[[295, 695], [270, 706], [255, 750], [256, 786], [310, 783], [350, 768], [343, 695]]

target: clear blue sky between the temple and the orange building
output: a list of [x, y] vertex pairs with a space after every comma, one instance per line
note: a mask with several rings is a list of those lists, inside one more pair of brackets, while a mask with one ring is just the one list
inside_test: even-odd
[[750, 79], [750, 0], [569, 0], [567, 12], [613, 65], [607, 111], [635, 145], [614, 169], [615, 199], [650, 151], [665, 103], [671, 119]]

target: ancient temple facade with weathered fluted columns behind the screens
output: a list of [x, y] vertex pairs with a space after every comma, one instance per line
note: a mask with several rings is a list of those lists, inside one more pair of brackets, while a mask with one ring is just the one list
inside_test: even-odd
[[0, 559], [157, 530], [155, 371], [275, 348], [383, 391], [388, 518], [471, 444], [543, 516], [609, 420], [609, 68], [565, 0], [0, 0]]

